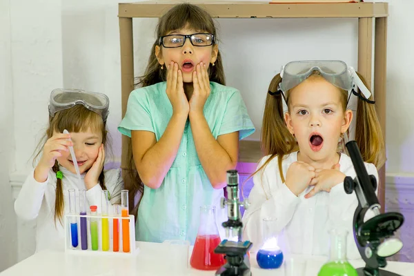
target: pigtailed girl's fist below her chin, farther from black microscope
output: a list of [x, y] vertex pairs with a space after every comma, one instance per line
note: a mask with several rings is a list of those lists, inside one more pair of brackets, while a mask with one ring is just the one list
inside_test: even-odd
[[286, 172], [285, 184], [296, 196], [300, 195], [311, 184], [315, 177], [315, 168], [313, 166], [296, 161], [290, 164]]

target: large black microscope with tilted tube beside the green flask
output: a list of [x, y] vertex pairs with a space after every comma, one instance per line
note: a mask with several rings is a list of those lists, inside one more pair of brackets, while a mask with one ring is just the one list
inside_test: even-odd
[[[380, 268], [386, 266], [386, 257], [395, 255], [402, 248], [402, 242], [393, 235], [402, 226], [404, 216], [395, 212], [380, 213], [381, 206], [375, 195], [377, 180], [366, 172], [357, 143], [349, 141], [346, 148], [357, 177], [345, 177], [344, 189], [347, 194], [355, 191], [357, 195], [358, 207], [353, 217], [353, 235], [359, 254], [366, 264], [364, 268], [357, 269], [358, 275], [400, 276]], [[372, 210], [375, 216], [364, 221], [368, 210]]]

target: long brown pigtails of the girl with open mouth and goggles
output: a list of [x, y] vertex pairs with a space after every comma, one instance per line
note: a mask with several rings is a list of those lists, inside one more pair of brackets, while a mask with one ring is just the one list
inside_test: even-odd
[[[357, 73], [359, 78], [366, 85], [366, 80], [362, 75]], [[319, 71], [313, 71], [310, 78], [321, 77]], [[276, 92], [279, 83], [282, 78], [279, 74], [273, 77], [270, 81], [268, 91]], [[368, 86], [367, 86], [368, 87]], [[338, 88], [339, 89], [339, 88]], [[342, 108], [345, 111], [348, 103], [348, 91], [339, 89], [341, 92]], [[286, 92], [286, 104], [289, 107], [290, 92]], [[384, 137], [380, 127], [380, 121], [375, 111], [375, 106], [371, 103], [367, 103], [360, 99], [364, 97], [361, 91], [358, 89], [358, 106], [357, 106], [357, 121], [356, 121], [356, 135], [355, 141], [361, 150], [361, 155], [364, 161], [373, 163], [377, 168], [381, 168], [386, 161]], [[369, 100], [373, 100], [373, 96], [369, 97]], [[279, 172], [284, 181], [284, 175], [282, 173], [282, 160], [284, 155], [288, 155], [298, 150], [295, 137], [290, 134], [286, 123], [284, 121], [284, 110], [282, 105], [283, 97], [282, 93], [276, 95], [270, 95], [267, 93], [266, 105], [264, 107], [263, 123], [262, 123], [262, 150], [264, 155], [270, 155], [266, 162], [258, 168], [253, 175], [266, 167], [267, 164], [275, 157], [278, 159]], [[252, 175], [252, 176], [253, 176]]]

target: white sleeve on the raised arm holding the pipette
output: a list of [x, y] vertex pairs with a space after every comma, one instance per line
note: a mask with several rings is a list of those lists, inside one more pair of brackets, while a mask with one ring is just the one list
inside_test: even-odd
[[14, 201], [14, 211], [18, 217], [24, 220], [37, 218], [49, 179], [50, 177], [48, 176], [46, 181], [37, 182], [34, 179], [34, 170], [30, 172], [21, 187], [16, 201]]

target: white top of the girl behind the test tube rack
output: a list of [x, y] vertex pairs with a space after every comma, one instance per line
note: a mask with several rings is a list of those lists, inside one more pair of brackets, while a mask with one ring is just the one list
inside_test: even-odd
[[[60, 167], [63, 172], [62, 188], [64, 212], [69, 213], [69, 194], [68, 189], [83, 190], [85, 183], [83, 178], [85, 173], [81, 175], [81, 183], [76, 174], [73, 174], [66, 168]], [[105, 185], [110, 193], [110, 213], [112, 204], [120, 204], [121, 190], [124, 188], [124, 181], [121, 178], [120, 170], [107, 170], [105, 173]], [[57, 219], [55, 224], [55, 199], [56, 199], [56, 174], [52, 170], [49, 171], [48, 179], [43, 183], [34, 180], [34, 170], [30, 172], [16, 201], [14, 202], [14, 210], [16, 214], [24, 220], [37, 219], [36, 230], [36, 252], [46, 249], [56, 244], [57, 241], [63, 239], [65, 231], [63, 226]], [[76, 192], [78, 195], [78, 192]], [[96, 205], [101, 208], [102, 188], [99, 184], [86, 191], [87, 208]], [[87, 210], [89, 212], [89, 210]], [[79, 197], [77, 197], [77, 212], [79, 212]], [[62, 217], [62, 223], [63, 223]]]

